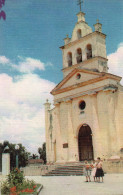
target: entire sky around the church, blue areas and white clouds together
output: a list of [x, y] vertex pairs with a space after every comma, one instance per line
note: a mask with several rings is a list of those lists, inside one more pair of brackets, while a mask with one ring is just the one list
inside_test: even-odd
[[[102, 23], [111, 72], [122, 76], [123, 1], [85, 0], [82, 9], [91, 27], [97, 19]], [[1, 141], [22, 142], [36, 152], [45, 141], [43, 103], [53, 100], [49, 92], [62, 80], [59, 47], [66, 34], [71, 37], [79, 7], [76, 0], [6, 0], [3, 10]]]

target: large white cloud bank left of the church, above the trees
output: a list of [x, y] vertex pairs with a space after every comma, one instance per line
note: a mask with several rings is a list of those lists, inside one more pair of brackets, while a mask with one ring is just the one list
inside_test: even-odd
[[44, 103], [55, 83], [36, 74], [0, 74], [0, 137], [36, 153], [45, 141]]

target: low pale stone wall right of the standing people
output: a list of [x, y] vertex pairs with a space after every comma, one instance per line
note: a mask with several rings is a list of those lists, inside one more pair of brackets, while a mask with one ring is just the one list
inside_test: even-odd
[[123, 160], [107, 160], [103, 162], [106, 173], [123, 173]]

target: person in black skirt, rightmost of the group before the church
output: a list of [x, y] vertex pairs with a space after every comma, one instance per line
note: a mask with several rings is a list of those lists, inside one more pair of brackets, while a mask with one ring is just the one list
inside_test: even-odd
[[103, 177], [104, 177], [104, 172], [103, 172], [103, 169], [102, 169], [102, 162], [101, 162], [101, 159], [100, 157], [97, 158], [97, 170], [96, 170], [96, 175], [95, 177], [98, 178], [98, 182], [100, 182], [100, 177], [102, 177], [102, 182], [103, 182]]

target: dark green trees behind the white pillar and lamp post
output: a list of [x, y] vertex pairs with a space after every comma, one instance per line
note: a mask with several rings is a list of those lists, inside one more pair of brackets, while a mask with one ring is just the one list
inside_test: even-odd
[[[19, 145], [19, 149], [15, 149], [16, 144], [9, 143], [8, 141], [4, 141], [3, 144], [0, 143], [0, 152], [1, 153], [10, 153], [10, 168], [13, 169], [16, 167], [16, 155], [18, 154], [19, 159], [19, 167], [25, 167], [28, 163], [29, 152], [26, 151], [25, 147], [22, 144]], [[9, 149], [5, 150], [5, 147], [8, 146]]]

